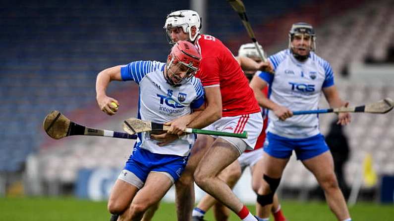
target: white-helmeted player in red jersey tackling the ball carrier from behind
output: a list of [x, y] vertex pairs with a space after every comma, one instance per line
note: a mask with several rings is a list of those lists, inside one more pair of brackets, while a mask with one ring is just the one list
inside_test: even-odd
[[[242, 133], [248, 138], [199, 135], [188, 165], [182, 177], [175, 183], [177, 215], [179, 221], [189, 221], [194, 204], [193, 180], [197, 185], [230, 208], [243, 221], [256, 221], [246, 206], [233, 194], [228, 185], [217, 175], [246, 149], [253, 149], [263, 127], [260, 107], [248, 80], [231, 51], [217, 38], [200, 34], [201, 20], [197, 12], [180, 10], [167, 16], [164, 28], [170, 43], [188, 40], [202, 55], [200, 70], [196, 77], [206, 93], [206, 109], [188, 128]], [[241, 66], [252, 70], [266, 70], [269, 66], [242, 58]], [[267, 71], [267, 70], [266, 70]], [[170, 122], [169, 133], [181, 134], [175, 120]], [[170, 142], [167, 134], [152, 135], [153, 138]]]

